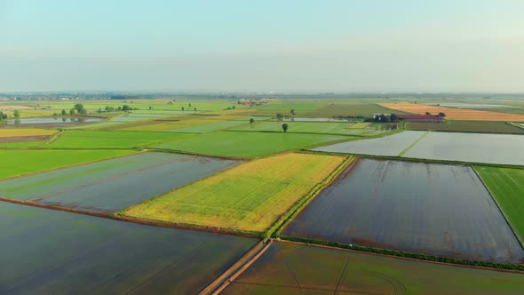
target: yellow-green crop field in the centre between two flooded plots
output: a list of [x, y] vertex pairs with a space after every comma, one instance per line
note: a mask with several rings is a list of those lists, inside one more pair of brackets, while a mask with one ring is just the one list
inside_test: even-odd
[[310, 154], [266, 157], [132, 206], [121, 214], [261, 232], [344, 160], [343, 156]]

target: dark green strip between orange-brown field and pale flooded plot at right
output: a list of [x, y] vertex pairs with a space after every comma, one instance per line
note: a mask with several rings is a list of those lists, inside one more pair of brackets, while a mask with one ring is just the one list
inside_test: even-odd
[[409, 130], [429, 130], [435, 132], [484, 132], [524, 134], [524, 129], [506, 124], [504, 122], [482, 121], [447, 121], [445, 123], [409, 122]]

